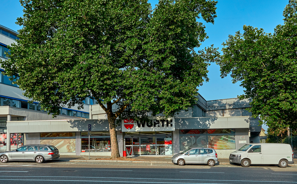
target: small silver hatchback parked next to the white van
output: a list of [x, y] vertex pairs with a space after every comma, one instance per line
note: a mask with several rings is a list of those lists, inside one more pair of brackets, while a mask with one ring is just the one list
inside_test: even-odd
[[183, 166], [184, 164], [207, 164], [214, 166], [218, 163], [218, 155], [212, 148], [192, 147], [171, 158], [172, 163]]

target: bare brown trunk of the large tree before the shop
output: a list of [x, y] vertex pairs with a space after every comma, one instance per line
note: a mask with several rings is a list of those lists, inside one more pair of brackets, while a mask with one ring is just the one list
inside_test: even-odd
[[115, 118], [109, 117], [108, 123], [109, 123], [109, 133], [110, 133], [110, 143], [111, 143], [111, 158], [119, 158], [119, 145], [118, 145], [118, 138], [116, 137], [116, 124], [115, 124]]

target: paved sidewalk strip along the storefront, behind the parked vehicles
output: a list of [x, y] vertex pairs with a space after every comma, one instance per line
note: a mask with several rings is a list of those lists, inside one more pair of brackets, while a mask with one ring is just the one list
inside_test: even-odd
[[[219, 158], [219, 164], [230, 164], [228, 158]], [[74, 162], [136, 162], [136, 163], [172, 163], [171, 157], [149, 157], [149, 156], [134, 156], [121, 157], [119, 159], [110, 159], [109, 156], [60, 156], [56, 161], [74, 161]], [[297, 158], [294, 158], [295, 164], [290, 166], [297, 166]]]

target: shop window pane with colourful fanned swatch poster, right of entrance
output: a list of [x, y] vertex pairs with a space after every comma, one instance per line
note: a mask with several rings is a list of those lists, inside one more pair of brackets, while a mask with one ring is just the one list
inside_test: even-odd
[[234, 135], [221, 135], [221, 136], [207, 136], [208, 147], [216, 150], [229, 150], [235, 149], [235, 136]]

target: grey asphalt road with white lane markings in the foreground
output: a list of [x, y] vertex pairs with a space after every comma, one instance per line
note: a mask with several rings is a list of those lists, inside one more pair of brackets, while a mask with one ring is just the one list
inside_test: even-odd
[[151, 164], [108, 162], [11, 162], [0, 164], [0, 183], [297, 184], [297, 166]]

